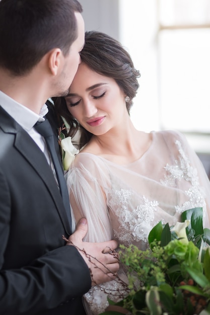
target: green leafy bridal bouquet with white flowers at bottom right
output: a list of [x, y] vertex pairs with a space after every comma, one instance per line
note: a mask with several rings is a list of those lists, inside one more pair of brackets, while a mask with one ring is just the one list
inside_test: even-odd
[[210, 313], [210, 230], [203, 228], [202, 208], [183, 212], [181, 219], [174, 227], [159, 222], [149, 234], [146, 251], [120, 246], [129, 293], [109, 304], [135, 315]]

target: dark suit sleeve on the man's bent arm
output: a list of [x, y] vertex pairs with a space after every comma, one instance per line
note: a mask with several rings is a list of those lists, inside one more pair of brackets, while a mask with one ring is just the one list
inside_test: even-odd
[[9, 247], [12, 199], [1, 170], [0, 200], [1, 314], [27, 312], [33, 315], [87, 292], [91, 286], [90, 272], [73, 246], [51, 250], [22, 268], [5, 268], [4, 255]]

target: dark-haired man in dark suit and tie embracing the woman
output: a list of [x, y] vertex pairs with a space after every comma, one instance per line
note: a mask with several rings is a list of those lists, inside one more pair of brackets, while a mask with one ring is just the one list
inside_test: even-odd
[[[97, 283], [110, 278], [77, 248], [118, 269], [102, 253], [116, 242], [82, 242], [85, 219], [71, 235], [52, 156], [34, 128], [49, 115], [46, 100], [65, 95], [77, 71], [81, 12], [76, 0], [0, 1], [1, 315], [84, 314], [90, 269]], [[65, 246], [62, 235], [76, 247]]]

